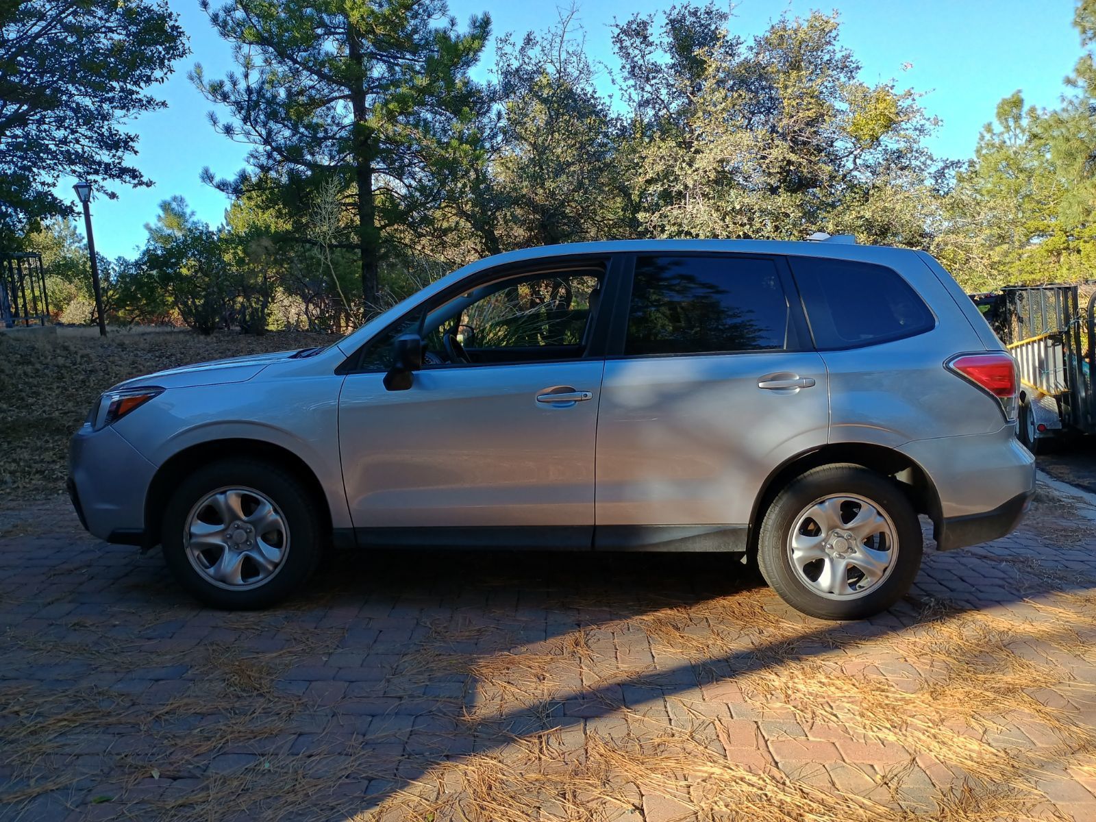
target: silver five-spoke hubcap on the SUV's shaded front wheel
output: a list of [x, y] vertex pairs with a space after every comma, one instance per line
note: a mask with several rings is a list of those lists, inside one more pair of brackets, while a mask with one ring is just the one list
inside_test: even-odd
[[289, 551], [281, 510], [252, 488], [221, 488], [204, 496], [186, 517], [183, 539], [195, 570], [233, 591], [270, 582]]

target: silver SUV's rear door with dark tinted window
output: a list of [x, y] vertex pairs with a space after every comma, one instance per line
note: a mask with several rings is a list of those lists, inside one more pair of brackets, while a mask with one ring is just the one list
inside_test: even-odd
[[826, 442], [825, 366], [787, 265], [639, 255], [631, 282], [602, 380], [595, 547], [743, 547], [769, 472]]

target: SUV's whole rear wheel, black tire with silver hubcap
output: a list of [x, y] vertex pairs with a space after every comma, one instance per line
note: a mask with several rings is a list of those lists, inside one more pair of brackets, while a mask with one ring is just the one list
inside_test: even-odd
[[[868, 521], [865, 504], [878, 520]], [[861, 514], [865, 524], [858, 523]], [[797, 610], [863, 619], [905, 595], [923, 550], [917, 513], [895, 481], [861, 466], [830, 465], [795, 478], [773, 500], [757, 538], [757, 564]]]

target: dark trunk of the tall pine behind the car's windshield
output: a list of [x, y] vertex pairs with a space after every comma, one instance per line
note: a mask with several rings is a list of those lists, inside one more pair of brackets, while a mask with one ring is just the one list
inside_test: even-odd
[[[354, 181], [357, 184], [357, 238], [362, 258], [362, 296], [366, 308], [379, 301], [378, 270], [380, 263], [380, 232], [377, 230], [377, 209], [373, 198], [373, 153], [376, 133], [368, 124], [369, 106], [365, 92], [365, 65], [362, 41], [353, 24], [350, 25], [347, 49], [358, 69], [351, 81], [351, 109], [354, 113], [353, 156]], [[349, 308], [349, 306], [347, 306]]]

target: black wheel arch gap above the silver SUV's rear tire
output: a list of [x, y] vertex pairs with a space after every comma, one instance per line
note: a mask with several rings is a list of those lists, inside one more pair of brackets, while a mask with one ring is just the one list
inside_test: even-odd
[[824, 465], [850, 464], [891, 477], [901, 486], [914, 510], [933, 521], [939, 533], [944, 522], [940, 498], [932, 478], [917, 463], [901, 452], [870, 443], [831, 443], [801, 452], [777, 466], [765, 479], [750, 512], [747, 551], [757, 550], [761, 521], [780, 489], [796, 477]]

